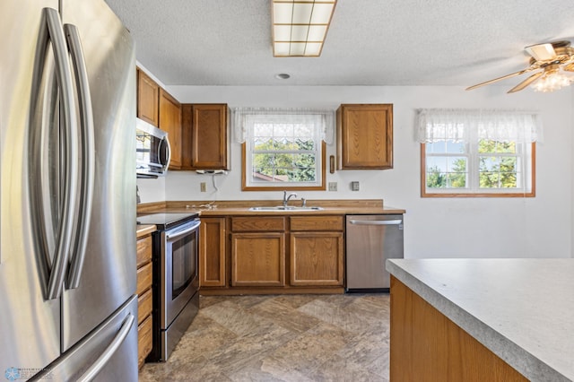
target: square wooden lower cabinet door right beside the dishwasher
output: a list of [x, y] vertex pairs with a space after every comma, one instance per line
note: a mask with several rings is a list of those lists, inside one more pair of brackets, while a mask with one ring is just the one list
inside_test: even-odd
[[343, 232], [291, 232], [291, 285], [343, 285]]

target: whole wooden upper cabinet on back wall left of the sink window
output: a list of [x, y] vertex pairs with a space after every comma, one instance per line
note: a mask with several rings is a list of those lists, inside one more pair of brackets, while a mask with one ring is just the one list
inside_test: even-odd
[[183, 105], [183, 169], [230, 169], [227, 104]]

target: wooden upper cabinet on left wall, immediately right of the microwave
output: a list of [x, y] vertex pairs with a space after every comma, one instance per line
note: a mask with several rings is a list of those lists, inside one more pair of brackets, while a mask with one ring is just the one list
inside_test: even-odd
[[160, 128], [168, 133], [170, 140], [170, 169], [181, 169], [181, 104], [163, 89], [160, 89]]

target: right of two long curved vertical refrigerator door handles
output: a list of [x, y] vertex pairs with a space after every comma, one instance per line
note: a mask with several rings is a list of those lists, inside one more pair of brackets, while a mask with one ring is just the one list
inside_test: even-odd
[[93, 200], [94, 184], [94, 126], [93, 112], [91, 109], [90, 84], [88, 82], [88, 71], [86, 69], [83, 56], [82, 42], [77, 28], [72, 24], [64, 25], [65, 37], [70, 48], [76, 87], [78, 91], [78, 103], [80, 110], [80, 130], [81, 139], [81, 165], [80, 165], [80, 192], [78, 225], [75, 231], [74, 246], [72, 247], [72, 258], [70, 272], [68, 273], [67, 287], [77, 288], [82, 275], [83, 260], [86, 255], [86, 245], [88, 242], [88, 231], [91, 221], [91, 202]]

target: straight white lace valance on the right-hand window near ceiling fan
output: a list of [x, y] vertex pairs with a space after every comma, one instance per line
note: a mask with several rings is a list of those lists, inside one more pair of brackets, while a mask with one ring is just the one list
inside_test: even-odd
[[461, 142], [471, 136], [501, 142], [542, 142], [542, 121], [537, 112], [525, 110], [417, 109], [417, 142]]

